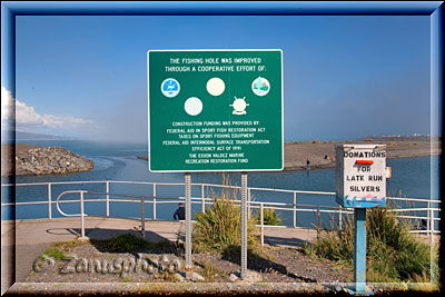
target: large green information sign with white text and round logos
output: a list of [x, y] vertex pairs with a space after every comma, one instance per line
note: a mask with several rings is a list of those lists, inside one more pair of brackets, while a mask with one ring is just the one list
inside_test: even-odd
[[149, 50], [150, 171], [283, 170], [281, 50]]

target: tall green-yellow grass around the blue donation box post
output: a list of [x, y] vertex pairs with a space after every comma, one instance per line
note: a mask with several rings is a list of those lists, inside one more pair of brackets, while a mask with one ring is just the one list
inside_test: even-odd
[[[429, 246], [409, 234], [411, 225], [399, 221], [392, 207], [367, 211], [367, 281], [429, 281]], [[326, 231], [305, 247], [308, 255], [354, 263], [354, 220], [346, 219], [344, 230]], [[437, 266], [437, 257], [434, 257]]]

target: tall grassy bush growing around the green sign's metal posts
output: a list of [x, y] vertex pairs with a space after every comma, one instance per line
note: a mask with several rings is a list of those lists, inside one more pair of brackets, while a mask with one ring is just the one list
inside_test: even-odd
[[[228, 185], [224, 178], [224, 185]], [[237, 249], [241, 239], [241, 211], [236, 204], [237, 190], [228, 187], [221, 190], [220, 197], [211, 192], [214, 205], [206, 212], [196, 216], [194, 226], [194, 248], [197, 251], [226, 253]], [[255, 220], [247, 225], [247, 244], [249, 248], [258, 245]]]

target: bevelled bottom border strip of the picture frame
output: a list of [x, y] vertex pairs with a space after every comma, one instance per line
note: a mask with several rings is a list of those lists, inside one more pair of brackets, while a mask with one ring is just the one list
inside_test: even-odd
[[[8, 294], [91, 294], [91, 293], [340, 293], [353, 283], [16, 283]], [[368, 284], [374, 293], [383, 291], [438, 291], [432, 283]]]

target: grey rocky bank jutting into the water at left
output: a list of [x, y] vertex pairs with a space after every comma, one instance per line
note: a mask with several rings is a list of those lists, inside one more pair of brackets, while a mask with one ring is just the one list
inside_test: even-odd
[[[95, 162], [61, 147], [34, 147], [16, 151], [16, 176], [40, 176], [89, 171]], [[2, 172], [2, 175], [11, 175]]]

